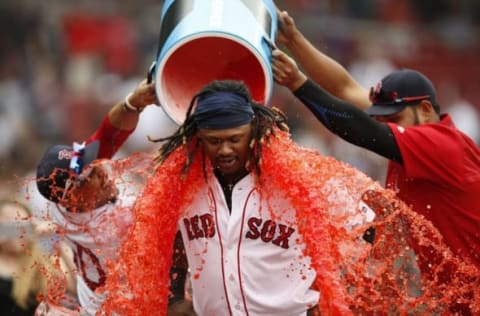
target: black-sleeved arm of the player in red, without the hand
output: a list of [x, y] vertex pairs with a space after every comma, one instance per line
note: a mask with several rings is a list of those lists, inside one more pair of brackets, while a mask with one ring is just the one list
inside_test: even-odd
[[307, 80], [294, 94], [331, 132], [385, 158], [402, 161], [393, 133], [386, 124], [330, 95], [311, 80]]

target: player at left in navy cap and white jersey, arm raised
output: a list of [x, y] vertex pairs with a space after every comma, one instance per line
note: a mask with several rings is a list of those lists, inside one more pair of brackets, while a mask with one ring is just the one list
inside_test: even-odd
[[[109, 111], [84, 143], [52, 146], [38, 164], [38, 190], [55, 203], [50, 209], [51, 220], [74, 253], [81, 315], [95, 315], [105, 297], [98, 289], [104, 285], [107, 264], [115, 259], [132, 223], [134, 194], [139, 189], [134, 182], [128, 183], [128, 190], [122, 188], [120, 177], [112, 177], [115, 170], [109, 159], [134, 131], [142, 110], [156, 102], [153, 84], [140, 83]], [[148, 167], [142, 162], [145, 160], [138, 157], [134, 164]], [[55, 302], [44, 302], [37, 311], [41, 315], [55, 313]]]

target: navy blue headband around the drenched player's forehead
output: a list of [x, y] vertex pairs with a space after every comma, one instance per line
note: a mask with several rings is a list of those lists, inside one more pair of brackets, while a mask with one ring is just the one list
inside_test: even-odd
[[248, 124], [253, 119], [252, 104], [233, 92], [212, 92], [201, 96], [195, 108], [199, 128], [227, 129]]

